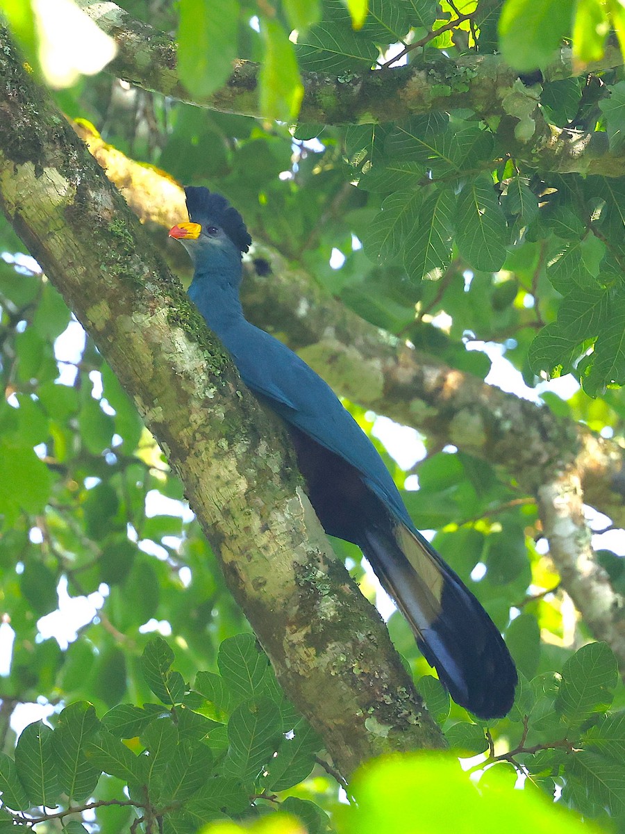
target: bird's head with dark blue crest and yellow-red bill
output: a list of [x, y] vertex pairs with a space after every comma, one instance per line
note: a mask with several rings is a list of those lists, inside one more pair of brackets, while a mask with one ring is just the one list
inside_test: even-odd
[[188, 186], [184, 193], [190, 223], [173, 226], [169, 237], [183, 244], [196, 270], [215, 261], [240, 263], [252, 238], [237, 209], [208, 188]]

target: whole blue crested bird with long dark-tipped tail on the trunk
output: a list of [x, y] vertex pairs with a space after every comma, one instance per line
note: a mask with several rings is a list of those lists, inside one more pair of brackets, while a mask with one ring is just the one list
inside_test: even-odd
[[506, 715], [517, 671], [498, 629], [415, 528], [382, 458], [333, 390], [245, 319], [239, 284], [252, 239], [241, 215], [208, 188], [184, 190], [191, 222], [169, 235], [193, 260], [189, 298], [243, 382], [285, 421], [324, 530], [363, 551], [453, 700], [480, 718]]

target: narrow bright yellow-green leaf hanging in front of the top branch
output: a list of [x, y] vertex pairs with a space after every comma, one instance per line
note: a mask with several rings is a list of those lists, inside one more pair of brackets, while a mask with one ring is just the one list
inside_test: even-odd
[[265, 118], [296, 118], [304, 96], [293, 43], [277, 20], [263, 18], [265, 54], [260, 71], [260, 110]]

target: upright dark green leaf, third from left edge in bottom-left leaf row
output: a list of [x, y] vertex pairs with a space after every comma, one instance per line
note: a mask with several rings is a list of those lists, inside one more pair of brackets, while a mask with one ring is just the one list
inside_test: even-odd
[[66, 706], [58, 716], [52, 747], [62, 791], [75, 802], [82, 802], [92, 795], [102, 772], [85, 756], [85, 745], [99, 725], [96, 711], [87, 701]]

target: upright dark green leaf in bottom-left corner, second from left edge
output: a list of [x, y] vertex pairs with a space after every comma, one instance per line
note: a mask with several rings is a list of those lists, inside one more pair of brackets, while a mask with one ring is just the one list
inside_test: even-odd
[[53, 808], [61, 795], [52, 730], [42, 721], [24, 728], [15, 748], [18, 774], [33, 805]]

